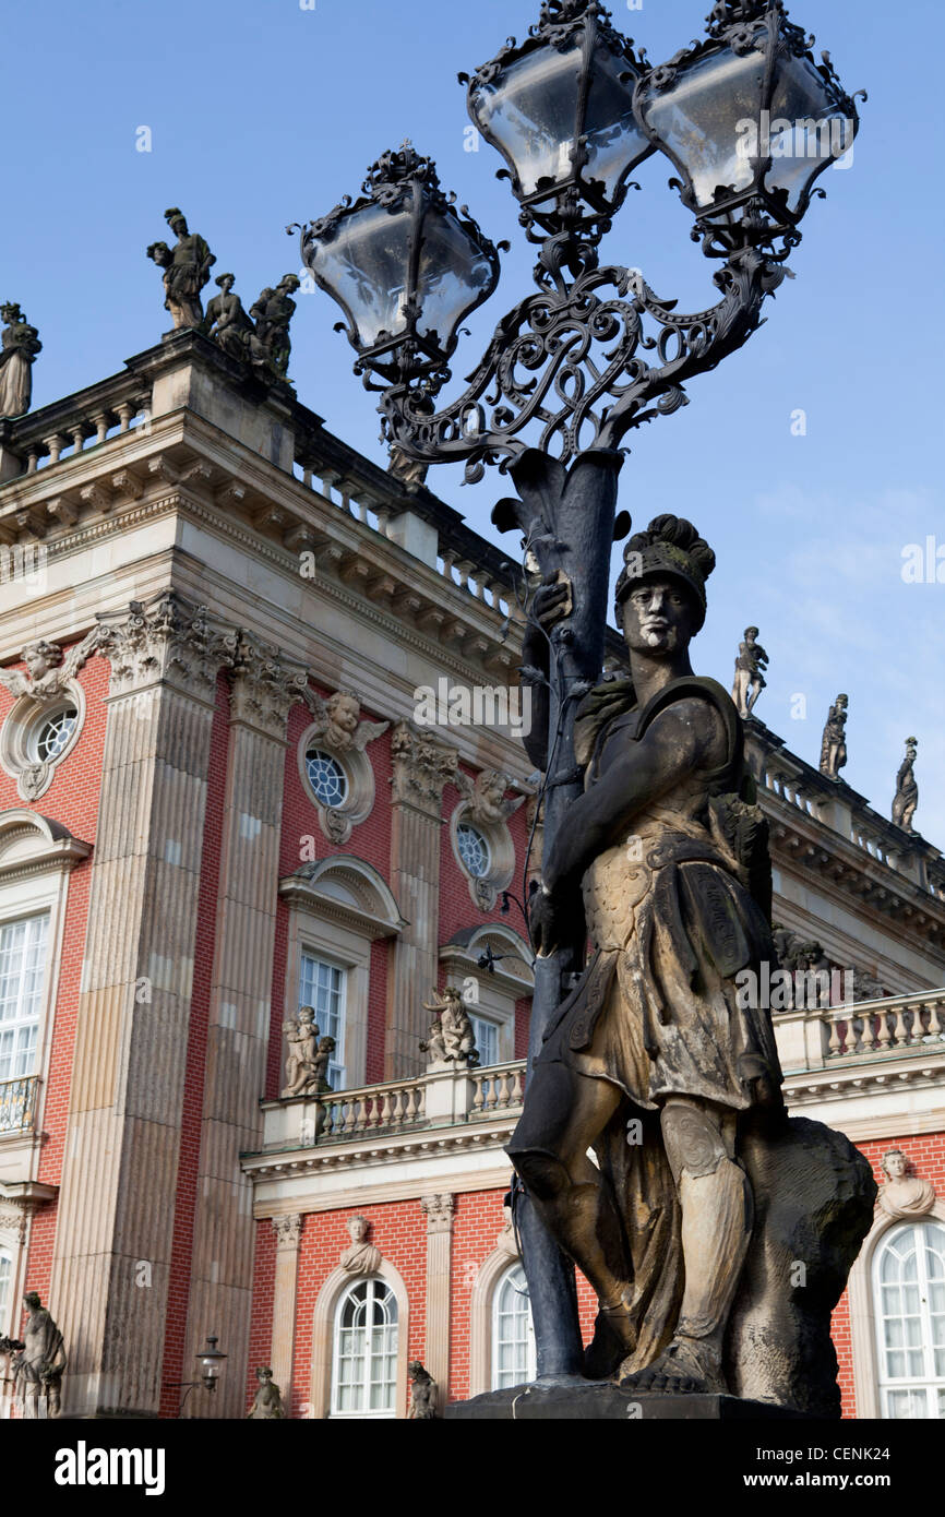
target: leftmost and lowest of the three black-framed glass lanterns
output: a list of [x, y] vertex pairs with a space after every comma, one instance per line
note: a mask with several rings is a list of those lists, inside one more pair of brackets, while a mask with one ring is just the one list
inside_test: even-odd
[[305, 228], [302, 256], [361, 355], [414, 341], [431, 361], [446, 360], [460, 322], [499, 278], [496, 247], [413, 149], [385, 155], [359, 200]]

